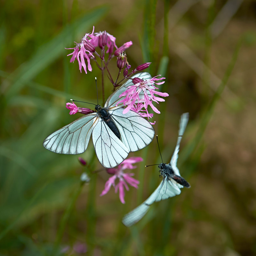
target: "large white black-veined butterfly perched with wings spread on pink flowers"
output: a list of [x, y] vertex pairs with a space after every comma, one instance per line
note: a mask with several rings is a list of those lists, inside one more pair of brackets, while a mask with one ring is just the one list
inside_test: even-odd
[[[139, 73], [134, 77], [150, 79], [149, 73]], [[123, 103], [117, 102], [124, 97], [119, 95], [132, 80], [127, 81], [113, 92], [106, 101], [104, 108], [95, 106], [95, 113], [76, 119], [74, 122], [50, 134], [43, 146], [55, 153], [81, 154], [84, 153], [92, 133], [95, 153], [106, 168], [113, 168], [121, 164], [129, 152], [145, 148], [154, 138], [152, 125], [132, 110], [123, 114]], [[140, 97], [144, 98], [143, 92]]]

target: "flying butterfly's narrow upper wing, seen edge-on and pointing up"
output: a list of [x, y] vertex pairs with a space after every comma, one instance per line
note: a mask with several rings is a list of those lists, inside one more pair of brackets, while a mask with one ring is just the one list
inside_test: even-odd
[[181, 115], [180, 117], [180, 129], [179, 129], [179, 136], [178, 136], [178, 140], [177, 140], [177, 144], [176, 144], [176, 147], [174, 149], [174, 152], [172, 154], [172, 158], [171, 158], [171, 161], [170, 161], [170, 164], [172, 165], [172, 168], [177, 169], [177, 173], [179, 176], [180, 176], [180, 172], [177, 168], [177, 160], [178, 160], [178, 153], [179, 153], [179, 149], [180, 149], [180, 141], [182, 139], [182, 136], [185, 132], [185, 129], [186, 129], [186, 126], [188, 124], [188, 113], [184, 113]]

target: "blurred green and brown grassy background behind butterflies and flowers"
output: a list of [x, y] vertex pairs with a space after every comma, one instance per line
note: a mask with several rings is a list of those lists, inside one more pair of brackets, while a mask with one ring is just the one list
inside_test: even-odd
[[[256, 1], [10, 0], [0, 13], [0, 255], [256, 255]], [[170, 96], [154, 115], [164, 161], [190, 113], [178, 167], [191, 188], [132, 228], [122, 217], [160, 182], [157, 166], [144, 167], [161, 162], [156, 140], [130, 154], [144, 161], [125, 204], [113, 188], [99, 196], [109, 175], [92, 174], [92, 141], [85, 167], [42, 146], [77, 118], [70, 98], [96, 102], [98, 69], [81, 74], [64, 49], [93, 25], [117, 46], [132, 40], [132, 68], [150, 61], [151, 75], [166, 77]], [[91, 181], [81, 187], [82, 172]]]

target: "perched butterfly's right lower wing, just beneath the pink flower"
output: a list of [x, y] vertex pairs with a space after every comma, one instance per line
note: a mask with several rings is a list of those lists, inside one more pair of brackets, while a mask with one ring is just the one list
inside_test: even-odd
[[123, 108], [109, 111], [113, 122], [118, 128], [121, 140], [129, 151], [145, 148], [154, 138], [153, 126], [134, 111], [123, 114]]

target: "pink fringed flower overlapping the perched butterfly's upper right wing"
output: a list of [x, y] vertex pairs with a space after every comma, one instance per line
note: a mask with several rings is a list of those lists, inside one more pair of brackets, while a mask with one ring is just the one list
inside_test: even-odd
[[[123, 111], [124, 114], [127, 113], [132, 108], [132, 106], [137, 102], [144, 103], [144, 108], [147, 110], [147, 113], [149, 105], [156, 113], [160, 114], [160, 111], [152, 104], [152, 100], [158, 104], [158, 101], [164, 101], [164, 99], [156, 97], [154, 94], [160, 95], [162, 97], [169, 96], [169, 94], [166, 92], [157, 92], [155, 90], [158, 88], [154, 84], [164, 84], [164, 81], [160, 83], [155, 83], [155, 81], [165, 79], [165, 77], [156, 77], [157, 76], [150, 78], [149, 80], [142, 80], [138, 77], [132, 79], [134, 85], [128, 86], [126, 91], [119, 95], [119, 97], [125, 96], [125, 98], [117, 102], [117, 104], [124, 103], [124, 106], [128, 105], [127, 108], [125, 108]], [[141, 95], [143, 94], [144, 99], [141, 98]]]

